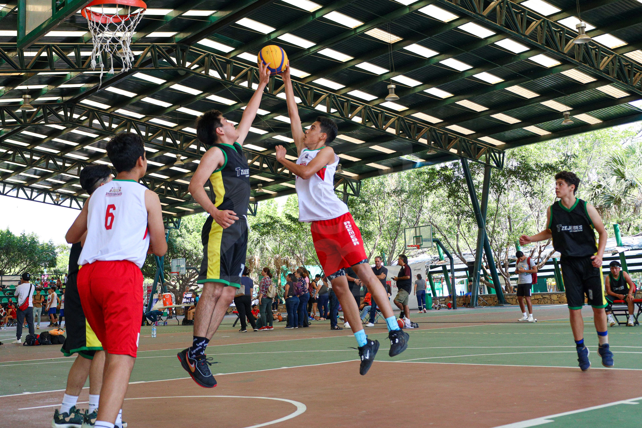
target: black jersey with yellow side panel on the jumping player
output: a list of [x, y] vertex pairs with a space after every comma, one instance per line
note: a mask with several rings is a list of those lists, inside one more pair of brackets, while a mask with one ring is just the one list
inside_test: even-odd
[[214, 147], [221, 149], [225, 163], [209, 176], [212, 203], [220, 210], [232, 210], [237, 216], [245, 216], [250, 205], [250, 168], [241, 144], [216, 143]]

